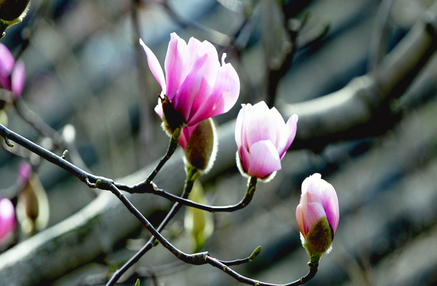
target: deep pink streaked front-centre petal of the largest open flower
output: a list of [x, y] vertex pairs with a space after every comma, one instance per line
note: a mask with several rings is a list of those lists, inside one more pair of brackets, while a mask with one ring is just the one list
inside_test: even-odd
[[189, 126], [196, 124], [189, 121], [190, 110], [196, 96], [202, 96], [208, 91], [209, 87], [203, 80], [205, 69], [207, 65], [207, 54], [196, 60], [190, 73], [186, 76], [182, 85], [176, 92], [172, 104], [174, 109], [180, 113], [185, 123]]

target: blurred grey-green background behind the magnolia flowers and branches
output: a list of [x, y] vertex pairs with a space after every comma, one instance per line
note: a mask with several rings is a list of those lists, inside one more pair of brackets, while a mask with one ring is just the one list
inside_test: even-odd
[[[33, 0], [24, 21], [9, 28], [1, 41], [25, 62], [23, 98], [27, 105], [56, 130], [66, 124], [75, 127], [75, 144], [93, 174], [123, 178], [133, 184], [133, 180], [145, 178], [143, 168], [162, 156], [168, 145], [153, 111], [159, 85], [138, 49], [139, 36], [161, 64], [169, 34], [174, 31], [186, 41], [191, 36], [212, 41], [219, 56], [227, 52], [227, 61], [240, 77], [241, 93], [231, 111], [216, 118], [219, 125], [226, 126], [236, 117], [240, 103], [272, 100], [272, 90], [275, 106], [283, 111], [288, 104], [330, 94], [356, 77], [378, 72], [386, 53], [416, 22], [423, 21], [423, 12], [432, 2]], [[435, 20], [436, 16], [431, 16]], [[284, 26], [293, 28], [296, 20], [286, 18], [306, 19], [294, 42]], [[431, 24], [429, 27], [433, 29]], [[435, 43], [433, 47], [435, 50]], [[292, 62], [287, 58], [290, 49], [295, 49]], [[259, 184], [251, 205], [235, 213], [213, 215], [215, 230], [204, 249], [213, 257], [233, 260], [248, 256], [261, 245], [263, 251], [255, 261], [233, 269], [271, 283], [287, 283], [303, 276], [308, 257], [300, 245], [295, 208], [301, 182], [318, 172], [337, 191], [340, 224], [332, 253], [322, 258], [318, 274], [308, 285], [437, 283], [435, 52], [413, 70], [415, 77], [404, 79], [407, 85], [399, 92], [395, 90], [390, 102], [384, 103], [384, 116], [379, 113], [362, 133], [354, 130], [350, 137], [343, 132], [338, 137], [323, 138], [320, 144], [316, 140], [294, 149], [292, 145], [293, 150], [282, 161], [282, 170], [270, 183]], [[379, 104], [371, 102], [369, 108], [378, 109]], [[299, 115], [299, 109], [293, 110]], [[7, 113], [10, 129], [33, 141], [41, 139], [12, 106]], [[231, 133], [226, 134], [232, 139]], [[233, 142], [219, 148], [230, 148], [232, 154], [236, 150]], [[160, 173], [159, 180], [171, 185], [168, 181], [176, 176], [172, 171], [183, 178], [180, 156], [180, 152], [174, 155], [180, 165]], [[15, 183], [20, 161], [6, 148], [0, 152], [0, 189]], [[239, 201], [246, 179], [234, 162], [219, 158], [214, 168], [216, 171], [202, 179], [208, 202], [225, 205]], [[138, 170], [135, 177], [126, 178]], [[57, 223], [75, 213], [85, 217], [83, 208], [88, 205], [89, 209], [93, 200], [94, 205], [95, 200], [101, 200], [101, 195], [95, 198], [91, 189], [47, 162], [40, 164], [37, 174], [48, 195], [50, 234], [59, 227]], [[175, 185], [181, 183], [177, 180]], [[181, 188], [179, 184], [170, 190], [179, 194]], [[145, 214], [155, 225], [170, 205], [151, 195], [143, 196], [149, 196]], [[190, 235], [183, 231], [184, 211], [163, 235], [191, 252]], [[65, 259], [66, 264], [75, 266], [45, 278], [35, 275], [32, 283], [104, 284], [108, 272], [121, 266], [150, 237], [126, 209], [116, 214], [129, 217], [133, 226], [106, 222], [98, 231], [103, 237], [105, 232], [119, 231], [110, 236], [116, 239], [96, 242], [101, 246], [91, 245], [94, 252], [89, 259]], [[32, 239], [45, 240], [45, 233]], [[79, 248], [80, 243], [78, 239]], [[20, 244], [24, 245], [24, 262], [37, 253], [34, 245], [26, 241]], [[63, 247], [58, 245], [56, 253]], [[137, 277], [141, 277], [141, 285], [239, 284], [209, 265], [179, 264], [161, 246], [152, 249], [128, 274], [121, 284], [133, 285]]]

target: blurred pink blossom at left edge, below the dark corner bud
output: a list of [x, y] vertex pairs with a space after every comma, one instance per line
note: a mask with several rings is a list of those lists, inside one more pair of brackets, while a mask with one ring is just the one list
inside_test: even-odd
[[26, 79], [24, 63], [15, 63], [9, 49], [0, 43], [0, 88], [12, 91], [15, 97], [20, 97]]

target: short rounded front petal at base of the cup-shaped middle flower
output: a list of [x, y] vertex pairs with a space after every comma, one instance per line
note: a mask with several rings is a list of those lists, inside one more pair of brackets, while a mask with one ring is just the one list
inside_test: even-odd
[[252, 177], [264, 178], [281, 169], [281, 159], [278, 151], [270, 140], [263, 140], [250, 147], [252, 163], [247, 174]]

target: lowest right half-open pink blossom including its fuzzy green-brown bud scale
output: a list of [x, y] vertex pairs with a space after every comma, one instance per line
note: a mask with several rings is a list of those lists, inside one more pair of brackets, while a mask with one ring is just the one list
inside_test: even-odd
[[302, 244], [310, 257], [319, 258], [330, 250], [340, 220], [334, 187], [316, 173], [302, 183], [302, 195], [296, 208]]

